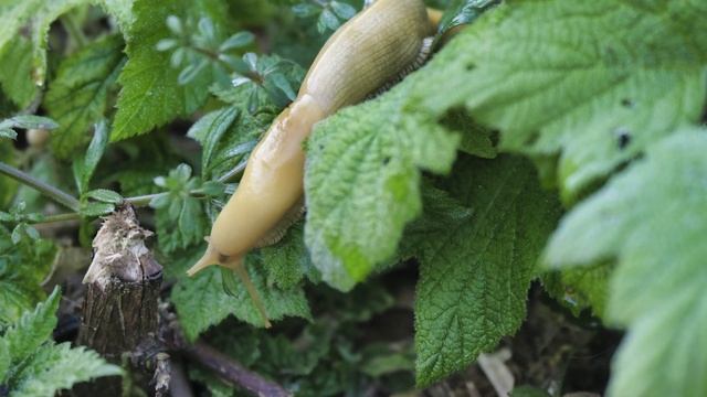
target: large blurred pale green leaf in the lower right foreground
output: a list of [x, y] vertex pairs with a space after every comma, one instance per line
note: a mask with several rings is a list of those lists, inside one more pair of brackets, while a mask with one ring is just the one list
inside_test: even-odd
[[648, 148], [578, 205], [547, 247], [552, 267], [618, 264], [606, 318], [629, 333], [612, 365], [612, 396], [707, 394], [705, 150], [704, 128]]

